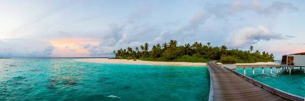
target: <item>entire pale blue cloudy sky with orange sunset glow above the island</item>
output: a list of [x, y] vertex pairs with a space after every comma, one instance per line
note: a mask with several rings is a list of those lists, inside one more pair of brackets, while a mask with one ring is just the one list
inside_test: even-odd
[[0, 0], [0, 57], [111, 57], [177, 40], [282, 55], [305, 51], [304, 1]]

